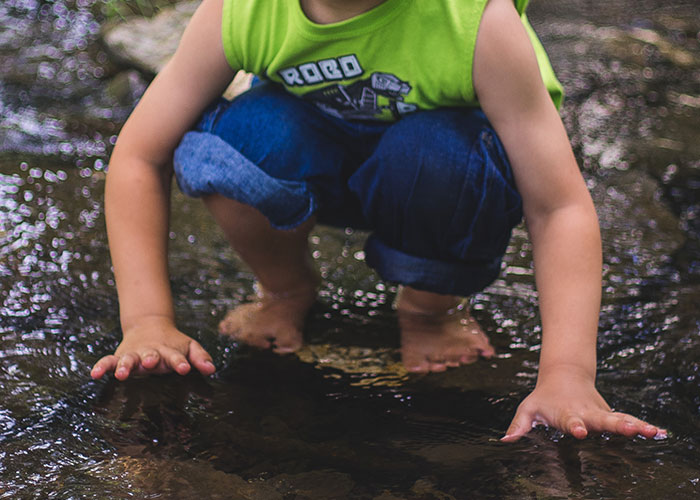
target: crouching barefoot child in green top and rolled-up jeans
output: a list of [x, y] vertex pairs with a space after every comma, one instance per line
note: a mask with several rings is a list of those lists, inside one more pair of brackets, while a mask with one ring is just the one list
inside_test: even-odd
[[[503, 440], [536, 423], [577, 438], [663, 435], [611, 411], [595, 389], [600, 234], [556, 111], [560, 89], [521, 16], [526, 3], [204, 0], [110, 161], [124, 338], [92, 376], [215, 371], [173, 319], [174, 152], [180, 187], [203, 197], [260, 285], [222, 333], [280, 353], [300, 347], [319, 283], [307, 242], [318, 220], [373, 231], [368, 264], [402, 285], [409, 370], [488, 358], [494, 350], [459, 297], [496, 278], [524, 212], [543, 339], [536, 387]], [[265, 83], [202, 116], [239, 69]]]

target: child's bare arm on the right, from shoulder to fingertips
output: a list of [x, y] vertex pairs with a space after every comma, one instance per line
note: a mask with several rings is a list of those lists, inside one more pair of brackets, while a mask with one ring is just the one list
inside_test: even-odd
[[535, 423], [653, 437], [664, 431], [612, 412], [595, 389], [601, 242], [593, 202], [561, 119], [542, 83], [512, 0], [491, 0], [474, 56], [474, 86], [501, 138], [523, 198], [542, 317], [537, 384], [504, 441]]

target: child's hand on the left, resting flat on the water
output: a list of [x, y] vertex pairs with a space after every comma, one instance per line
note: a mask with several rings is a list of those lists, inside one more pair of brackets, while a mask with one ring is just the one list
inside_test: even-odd
[[150, 318], [124, 330], [124, 340], [114, 354], [95, 363], [90, 375], [99, 379], [114, 372], [118, 380], [170, 372], [185, 375], [191, 366], [202, 375], [216, 371], [211, 356], [199, 342], [175, 328], [169, 319]]

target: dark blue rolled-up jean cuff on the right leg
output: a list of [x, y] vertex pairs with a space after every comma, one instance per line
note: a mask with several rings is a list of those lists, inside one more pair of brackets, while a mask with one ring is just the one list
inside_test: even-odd
[[489, 286], [501, 270], [500, 256], [473, 264], [446, 262], [408, 255], [387, 246], [374, 235], [365, 244], [365, 262], [386, 281], [462, 297]]

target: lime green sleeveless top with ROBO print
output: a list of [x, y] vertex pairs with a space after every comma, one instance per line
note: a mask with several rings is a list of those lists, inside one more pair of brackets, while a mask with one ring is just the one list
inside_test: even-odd
[[[283, 85], [347, 120], [478, 106], [474, 47], [488, 0], [386, 0], [351, 19], [316, 24], [299, 0], [224, 0], [231, 67]], [[555, 105], [563, 99], [542, 44], [515, 0]]]

